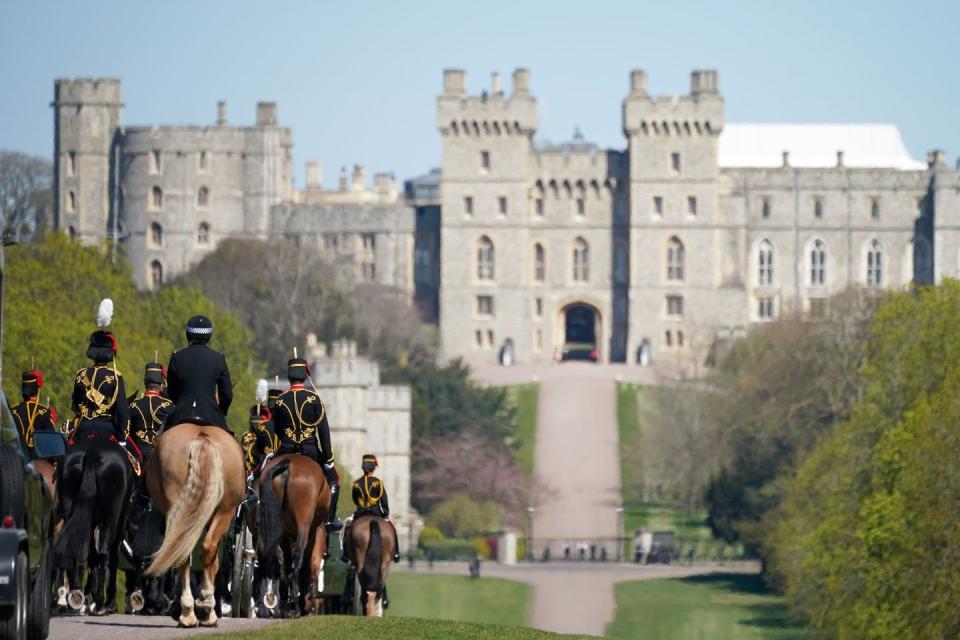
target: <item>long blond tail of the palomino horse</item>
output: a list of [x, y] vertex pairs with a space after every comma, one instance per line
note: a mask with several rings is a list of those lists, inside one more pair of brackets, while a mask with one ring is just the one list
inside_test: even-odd
[[187, 483], [167, 513], [163, 544], [147, 569], [149, 575], [159, 575], [190, 559], [223, 498], [223, 459], [217, 445], [200, 435], [187, 445], [187, 456]]

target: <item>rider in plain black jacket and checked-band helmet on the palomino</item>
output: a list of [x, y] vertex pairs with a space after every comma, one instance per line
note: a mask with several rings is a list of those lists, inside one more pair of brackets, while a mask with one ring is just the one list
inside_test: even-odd
[[170, 356], [167, 366], [167, 393], [173, 409], [166, 428], [195, 422], [230, 432], [227, 411], [233, 401], [233, 384], [226, 357], [208, 346], [213, 323], [206, 316], [193, 316], [187, 321], [186, 335], [189, 346]]

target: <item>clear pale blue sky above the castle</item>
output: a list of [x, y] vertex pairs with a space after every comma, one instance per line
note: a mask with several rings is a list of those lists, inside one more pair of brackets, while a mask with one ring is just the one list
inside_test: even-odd
[[653, 93], [719, 70], [729, 122], [891, 122], [913, 155], [960, 153], [960, 2], [488, 0], [0, 3], [0, 148], [49, 156], [53, 80], [123, 80], [126, 124], [248, 124], [276, 100], [303, 163], [398, 179], [440, 162], [441, 71], [471, 91], [531, 71], [539, 137], [624, 146], [629, 70]]

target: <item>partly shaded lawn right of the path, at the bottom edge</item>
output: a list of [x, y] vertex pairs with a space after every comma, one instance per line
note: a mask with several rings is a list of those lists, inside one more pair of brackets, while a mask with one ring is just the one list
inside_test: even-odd
[[631, 640], [813, 640], [759, 576], [714, 575], [616, 585], [607, 636]]

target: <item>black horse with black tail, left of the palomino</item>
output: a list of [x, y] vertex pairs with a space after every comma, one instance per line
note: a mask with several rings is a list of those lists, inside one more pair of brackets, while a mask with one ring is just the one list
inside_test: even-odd
[[135, 485], [130, 460], [112, 438], [83, 437], [67, 452], [57, 482], [64, 526], [55, 550], [58, 568], [67, 573], [72, 607], [84, 602], [80, 585], [86, 568], [90, 612], [116, 613], [120, 541]]

